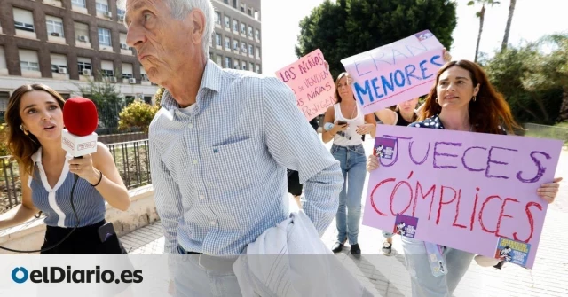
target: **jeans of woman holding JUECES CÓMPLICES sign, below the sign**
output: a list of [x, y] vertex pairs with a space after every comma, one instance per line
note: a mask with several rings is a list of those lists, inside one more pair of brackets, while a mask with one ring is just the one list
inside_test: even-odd
[[400, 237], [405, 251], [406, 269], [410, 273], [413, 297], [450, 297], [468, 271], [475, 254], [455, 248], [444, 247], [442, 256], [446, 261], [447, 274], [434, 277], [428, 254], [422, 240]]

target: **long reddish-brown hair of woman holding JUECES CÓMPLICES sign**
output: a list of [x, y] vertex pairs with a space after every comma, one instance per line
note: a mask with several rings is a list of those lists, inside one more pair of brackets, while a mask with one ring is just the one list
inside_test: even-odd
[[424, 121], [442, 111], [442, 106], [439, 106], [437, 102], [438, 80], [441, 74], [453, 66], [460, 66], [469, 72], [474, 88], [479, 84], [476, 101], [469, 101], [469, 123], [477, 132], [501, 134], [499, 127], [504, 126], [503, 128], [512, 133], [513, 129], [520, 128], [513, 119], [509, 104], [505, 101], [503, 95], [493, 88], [485, 71], [476, 63], [464, 59], [448, 62], [438, 70], [436, 83], [432, 86], [424, 102], [419, 121]]

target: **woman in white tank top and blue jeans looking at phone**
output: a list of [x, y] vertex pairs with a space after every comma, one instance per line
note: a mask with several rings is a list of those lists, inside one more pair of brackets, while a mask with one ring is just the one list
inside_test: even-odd
[[339, 74], [335, 81], [335, 103], [327, 108], [324, 122], [334, 123], [333, 128], [325, 130], [322, 138], [325, 143], [333, 139], [331, 153], [341, 163], [343, 171], [343, 190], [339, 194], [339, 207], [335, 215], [337, 225], [337, 242], [332, 251], [338, 253], [349, 239], [351, 254], [359, 256], [361, 249], [357, 237], [361, 218], [361, 198], [365, 184], [366, 157], [363, 149], [365, 134], [375, 139], [376, 121], [373, 113], [363, 115], [353, 90], [349, 74]]

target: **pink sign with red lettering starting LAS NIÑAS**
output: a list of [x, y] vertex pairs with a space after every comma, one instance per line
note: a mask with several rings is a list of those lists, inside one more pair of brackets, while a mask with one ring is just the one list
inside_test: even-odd
[[335, 104], [335, 83], [323, 62], [318, 49], [276, 72], [294, 90], [298, 108], [308, 121]]

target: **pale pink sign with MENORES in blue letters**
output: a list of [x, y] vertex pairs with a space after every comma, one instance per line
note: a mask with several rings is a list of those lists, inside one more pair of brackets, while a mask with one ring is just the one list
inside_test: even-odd
[[442, 43], [426, 30], [341, 62], [367, 114], [427, 94], [444, 65], [443, 50]]

